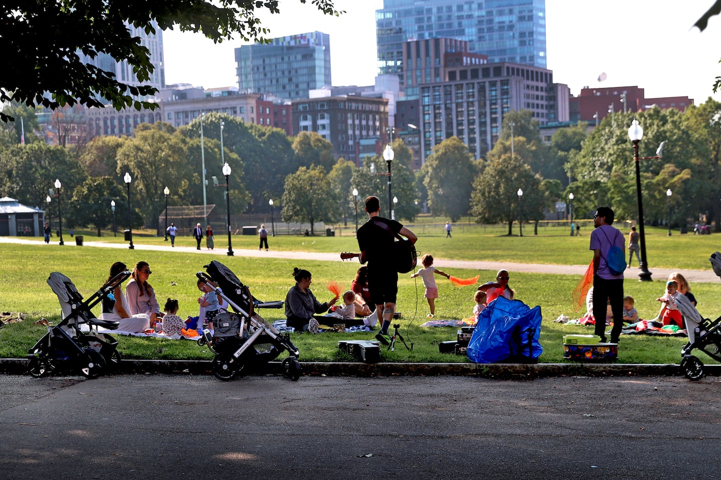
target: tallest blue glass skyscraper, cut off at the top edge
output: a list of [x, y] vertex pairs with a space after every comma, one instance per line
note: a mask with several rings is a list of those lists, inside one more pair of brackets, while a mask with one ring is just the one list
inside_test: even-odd
[[546, 68], [545, 0], [384, 0], [383, 6], [376, 10], [381, 75], [402, 75], [407, 40], [435, 37], [466, 40], [489, 63]]

